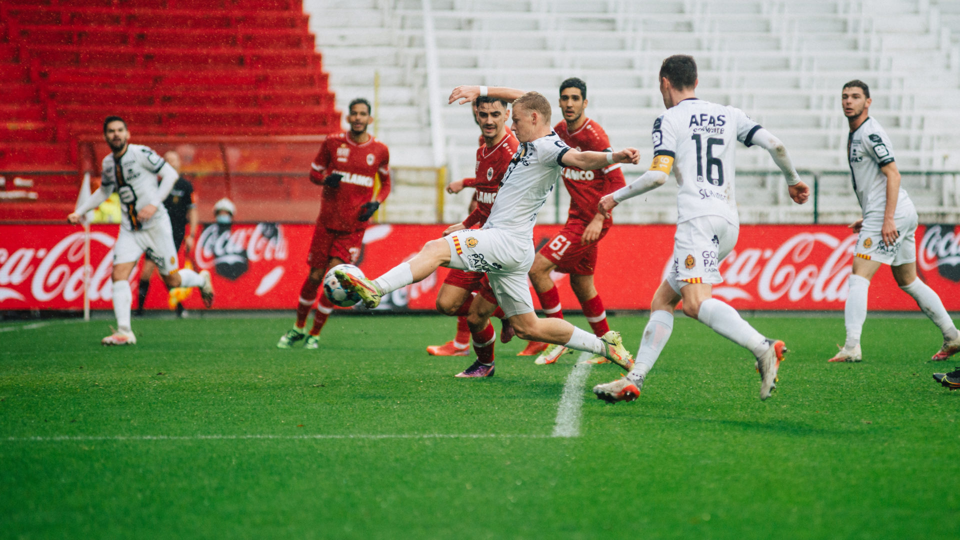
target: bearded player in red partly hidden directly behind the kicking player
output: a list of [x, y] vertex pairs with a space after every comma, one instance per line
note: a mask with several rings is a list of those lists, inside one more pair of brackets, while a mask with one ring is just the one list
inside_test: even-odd
[[[475, 116], [483, 132], [481, 145], [477, 148], [475, 176], [451, 182], [446, 190], [450, 193], [458, 193], [464, 187], [474, 187], [477, 205], [464, 221], [447, 227], [444, 236], [454, 231], [470, 229], [474, 225], [483, 227], [490, 215], [493, 201], [496, 199], [496, 192], [500, 188], [500, 180], [507, 172], [510, 160], [514, 157], [516, 147], [519, 145], [514, 133], [507, 129], [507, 118], [510, 115], [507, 102], [481, 96], [474, 100], [474, 107], [476, 108]], [[473, 293], [484, 294], [489, 301], [496, 302], [490, 287], [484, 286], [484, 276], [483, 272], [457, 269], [451, 269], [447, 273], [444, 284], [437, 293], [437, 310], [444, 315], [457, 316], [457, 338], [447, 341], [444, 345], [431, 345], [426, 348], [427, 353], [433, 356], [468, 356], [470, 330], [467, 314], [473, 300]], [[501, 320], [502, 315], [502, 309], [494, 313], [494, 316], [500, 316]], [[504, 331], [500, 332], [500, 338], [509, 341], [512, 330], [509, 327], [510, 323], [504, 321], [503, 324]]]

